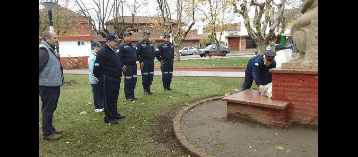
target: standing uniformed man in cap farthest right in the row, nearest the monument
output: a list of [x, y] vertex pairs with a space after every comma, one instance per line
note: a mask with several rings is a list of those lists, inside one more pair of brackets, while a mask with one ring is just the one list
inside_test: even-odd
[[160, 70], [162, 73], [164, 91], [171, 90], [170, 82], [173, 77], [174, 49], [173, 44], [169, 42], [170, 35], [164, 34], [164, 41], [158, 45], [155, 50], [155, 57], [160, 61]]

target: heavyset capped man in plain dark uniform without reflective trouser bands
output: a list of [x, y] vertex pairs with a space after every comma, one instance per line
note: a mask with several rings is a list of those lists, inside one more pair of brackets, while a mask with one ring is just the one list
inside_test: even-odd
[[117, 124], [116, 119], [125, 118], [117, 112], [119, 86], [122, 77], [122, 65], [114, 50], [120, 39], [115, 34], [108, 34], [106, 44], [98, 52], [93, 75], [100, 82], [100, 97], [103, 98], [105, 108], [105, 122]]

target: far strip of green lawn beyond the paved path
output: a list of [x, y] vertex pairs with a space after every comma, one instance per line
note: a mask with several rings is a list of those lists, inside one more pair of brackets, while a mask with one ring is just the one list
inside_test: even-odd
[[[174, 67], [222, 67], [222, 66], [246, 66], [252, 57], [224, 58], [224, 59], [196, 59], [174, 61]], [[139, 66], [139, 65], [138, 65]], [[160, 67], [159, 62], [154, 62], [155, 67]]]

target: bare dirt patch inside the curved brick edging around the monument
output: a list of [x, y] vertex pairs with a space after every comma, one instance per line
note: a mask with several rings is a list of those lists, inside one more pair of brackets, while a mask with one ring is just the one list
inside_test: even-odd
[[180, 125], [188, 141], [210, 156], [318, 156], [318, 130], [228, 121], [222, 100], [195, 106]]

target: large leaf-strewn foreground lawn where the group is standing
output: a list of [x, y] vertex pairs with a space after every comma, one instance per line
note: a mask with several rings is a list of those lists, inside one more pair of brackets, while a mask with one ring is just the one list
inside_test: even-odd
[[[168, 106], [182, 106], [184, 103], [211, 95], [236, 93], [235, 89], [241, 89], [243, 83], [243, 79], [237, 78], [173, 77], [173, 90], [164, 92], [161, 77], [154, 77], [151, 90], [155, 94], [145, 96], [141, 77], [138, 77], [135, 93], [139, 100], [133, 103], [125, 100], [122, 79], [117, 109], [118, 113], [127, 117], [119, 119], [118, 124], [109, 125], [103, 121], [104, 112], [95, 112], [93, 104], [87, 104], [93, 103], [88, 75], [67, 75], [65, 80], [76, 81], [78, 84], [61, 87], [53, 125], [58, 129], [64, 129], [62, 138], [55, 141], [40, 138], [39, 156], [148, 156], [154, 149], [154, 139], [146, 136], [150, 128], [156, 124], [151, 119], [164, 115], [170, 110]], [[257, 89], [257, 86], [254, 88]], [[80, 114], [82, 111], [86, 111], [87, 114]], [[94, 118], [98, 120], [93, 121]], [[130, 129], [132, 126], [136, 128]], [[175, 156], [175, 153], [168, 155]]]

